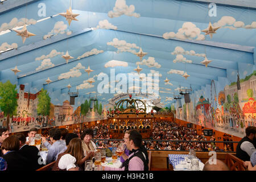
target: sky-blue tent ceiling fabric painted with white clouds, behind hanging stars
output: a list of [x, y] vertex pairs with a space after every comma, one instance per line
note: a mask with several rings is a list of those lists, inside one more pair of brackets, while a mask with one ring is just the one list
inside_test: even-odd
[[[174, 100], [165, 98], [177, 94], [180, 86], [195, 92], [212, 80], [236, 81], [234, 73], [243, 65], [254, 67], [255, 2], [227, 2], [230, 6], [217, 4], [216, 16], [209, 16], [210, 1], [19, 0], [13, 1], [15, 6], [7, 0], [0, 5], [0, 81], [10, 80], [17, 88], [24, 84], [30, 92], [44, 88], [64, 94], [68, 84], [76, 90], [94, 78], [93, 86], [79, 90], [80, 96], [89, 97], [87, 93], [97, 92], [97, 75], [110, 76], [112, 67], [106, 63], [117, 60], [123, 62], [114, 67], [115, 74], [133, 73], [138, 65], [141, 73], [160, 73], [159, 96], [168, 105]], [[59, 15], [69, 6], [79, 14], [70, 26]], [[23, 44], [12, 29], [24, 22], [35, 36]], [[209, 22], [220, 27], [212, 38], [201, 32]], [[140, 47], [147, 52], [142, 61], [134, 55]], [[68, 64], [61, 58], [67, 51], [74, 57]], [[211, 60], [207, 67], [201, 63], [205, 55]], [[93, 70], [89, 76], [84, 71], [88, 66]], [[20, 71], [16, 75], [11, 71], [15, 67]], [[48, 77], [52, 82], [46, 84]], [[98, 99], [113, 96], [101, 94]]]

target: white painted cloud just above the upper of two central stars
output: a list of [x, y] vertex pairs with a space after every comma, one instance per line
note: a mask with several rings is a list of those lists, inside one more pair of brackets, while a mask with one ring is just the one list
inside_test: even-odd
[[139, 49], [139, 47], [134, 43], [127, 43], [125, 40], [118, 40], [117, 38], [114, 38], [112, 42], [107, 43], [108, 46], [114, 46], [117, 48], [117, 53], [119, 52], [131, 52], [136, 53], [135, 49]]

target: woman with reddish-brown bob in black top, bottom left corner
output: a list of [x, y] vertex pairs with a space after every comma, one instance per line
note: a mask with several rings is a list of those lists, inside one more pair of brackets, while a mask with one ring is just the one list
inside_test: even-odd
[[7, 163], [6, 171], [28, 171], [28, 159], [20, 155], [19, 138], [15, 135], [6, 138], [2, 143], [3, 159]]

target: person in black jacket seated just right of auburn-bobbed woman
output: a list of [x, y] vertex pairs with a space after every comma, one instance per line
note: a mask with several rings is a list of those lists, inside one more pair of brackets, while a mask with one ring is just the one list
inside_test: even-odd
[[[41, 163], [39, 150], [35, 146], [29, 146], [26, 144], [26, 137], [22, 133], [15, 134], [19, 139], [19, 154], [28, 159], [28, 164], [32, 171], [43, 167]], [[39, 164], [40, 163], [40, 164]]]

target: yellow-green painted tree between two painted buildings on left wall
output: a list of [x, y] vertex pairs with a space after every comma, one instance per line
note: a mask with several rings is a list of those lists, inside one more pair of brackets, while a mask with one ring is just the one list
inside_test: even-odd
[[41, 89], [38, 95], [38, 115], [49, 115], [51, 109], [51, 97], [47, 93], [47, 90]]

